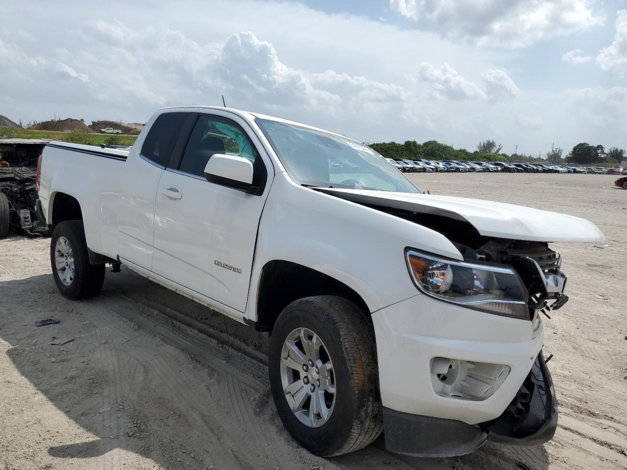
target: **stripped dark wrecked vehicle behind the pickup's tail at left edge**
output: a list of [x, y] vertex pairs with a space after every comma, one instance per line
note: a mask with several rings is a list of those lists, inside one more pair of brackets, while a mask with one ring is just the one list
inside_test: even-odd
[[9, 229], [29, 236], [50, 234], [36, 211], [37, 160], [50, 140], [0, 138], [0, 239]]

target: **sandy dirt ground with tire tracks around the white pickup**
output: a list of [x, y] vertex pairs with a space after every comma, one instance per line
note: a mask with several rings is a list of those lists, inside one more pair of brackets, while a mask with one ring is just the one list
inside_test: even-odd
[[[49, 239], [11, 236], [0, 241], [0, 469], [627, 468], [627, 191], [607, 175], [411, 178], [435, 194], [586, 217], [606, 234], [597, 246], [554, 244], [571, 301], [544, 321], [561, 413], [553, 441], [401, 459], [380, 438], [312, 456], [276, 415], [267, 337], [124, 268], [96, 298], [68, 301]], [[60, 323], [34, 325], [50, 317]]]

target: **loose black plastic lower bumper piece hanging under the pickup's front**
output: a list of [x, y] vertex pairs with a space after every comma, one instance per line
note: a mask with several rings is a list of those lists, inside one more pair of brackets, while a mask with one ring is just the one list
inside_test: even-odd
[[497, 419], [472, 426], [384, 408], [383, 422], [390, 452], [415, 457], [461, 456], [485, 441], [515, 446], [550, 441], [557, 427], [557, 400], [540, 352], [516, 397]]

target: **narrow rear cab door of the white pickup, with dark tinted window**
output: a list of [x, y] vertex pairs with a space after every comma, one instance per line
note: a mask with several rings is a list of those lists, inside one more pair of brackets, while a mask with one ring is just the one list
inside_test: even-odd
[[189, 113], [157, 116], [141, 149], [131, 152], [119, 175], [118, 254], [145, 269], [152, 264], [157, 184], [188, 116]]

